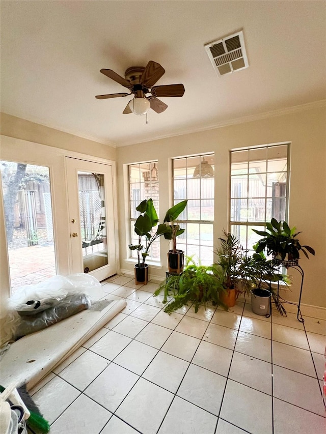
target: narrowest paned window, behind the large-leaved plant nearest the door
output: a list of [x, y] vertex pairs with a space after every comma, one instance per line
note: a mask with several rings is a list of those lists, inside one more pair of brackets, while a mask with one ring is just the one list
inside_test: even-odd
[[[138, 236], [134, 232], [134, 222], [139, 216], [136, 207], [142, 200], [153, 199], [153, 205], [159, 215], [158, 206], [158, 164], [157, 161], [129, 165], [130, 193], [130, 240], [138, 244]], [[130, 251], [131, 257], [137, 258], [135, 250]], [[159, 240], [154, 241], [149, 251], [148, 259], [159, 261]]]

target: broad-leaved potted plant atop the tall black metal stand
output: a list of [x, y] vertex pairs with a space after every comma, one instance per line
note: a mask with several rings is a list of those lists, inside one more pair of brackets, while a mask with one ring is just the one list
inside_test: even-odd
[[266, 223], [266, 231], [252, 229], [256, 234], [262, 236], [256, 246], [256, 253], [266, 251], [267, 256], [272, 255], [274, 259], [284, 262], [290, 261], [297, 264], [302, 251], [309, 259], [308, 253], [312, 255], [315, 251], [312, 247], [301, 245], [296, 238], [301, 232], [295, 232], [296, 227], [290, 229], [286, 221], [277, 221], [275, 218]]

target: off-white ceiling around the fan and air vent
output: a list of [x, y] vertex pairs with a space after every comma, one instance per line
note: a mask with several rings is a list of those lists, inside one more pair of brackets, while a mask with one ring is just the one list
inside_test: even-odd
[[[112, 146], [326, 98], [324, 1], [2, 1], [1, 110]], [[243, 29], [249, 68], [218, 77], [204, 44]], [[161, 64], [182, 98], [146, 117], [100, 74]]]

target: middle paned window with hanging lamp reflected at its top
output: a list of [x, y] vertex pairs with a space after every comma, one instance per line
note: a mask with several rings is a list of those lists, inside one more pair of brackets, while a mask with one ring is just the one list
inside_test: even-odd
[[173, 160], [174, 205], [188, 199], [179, 217], [185, 232], [177, 238], [178, 248], [200, 258], [203, 265], [213, 262], [214, 154]]

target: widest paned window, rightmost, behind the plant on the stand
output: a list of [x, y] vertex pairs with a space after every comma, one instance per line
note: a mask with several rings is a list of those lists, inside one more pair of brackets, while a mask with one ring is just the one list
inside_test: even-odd
[[249, 253], [260, 238], [251, 229], [287, 220], [289, 151], [289, 144], [231, 151], [231, 232]]

